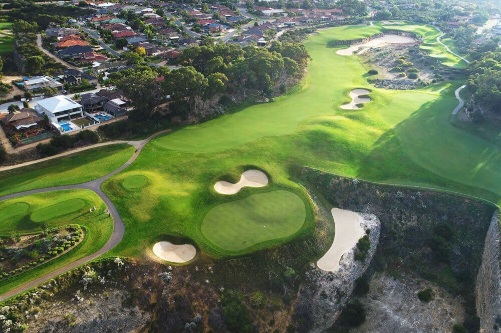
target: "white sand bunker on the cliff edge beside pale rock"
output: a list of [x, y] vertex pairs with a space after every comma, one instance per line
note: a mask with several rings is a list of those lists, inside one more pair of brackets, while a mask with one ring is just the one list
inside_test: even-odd
[[317, 266], [322, 270], [337, 271], [343, 254], [351, 251], [365, 232], [361, 226], [362, 216], [356, 212], [339, 208], [332, 208], [331, 212], [336, 226], [334, 241], [317, 261]]

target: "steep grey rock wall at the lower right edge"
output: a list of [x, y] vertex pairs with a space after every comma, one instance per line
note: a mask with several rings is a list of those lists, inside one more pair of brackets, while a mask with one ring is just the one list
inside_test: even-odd
[[481, 332], [497, 332], [501, 324], [501, 274], [499, 270], [499, 215], [492, 216], [485, 236], [482, 264], [476, 277], [476, 311]]

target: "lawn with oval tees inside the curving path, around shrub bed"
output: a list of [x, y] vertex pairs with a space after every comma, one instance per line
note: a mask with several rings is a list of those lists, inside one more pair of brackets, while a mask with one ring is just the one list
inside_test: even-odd
[[[89, 208], [96, 210], [89, 212]], [[87, 189], [61, 190], [20, 196], [0, 201], [0, 237], [15, 230], [21, 234], [41, 232], [43, 221], [49, 227], [79, 224], [85, 228], [85, 238], [74, 249], [15, 277], [0, 281], [0, 294], [47, 274], [100, 249], [113, 231], [113, 219], [105, 213], [106, 204]], [[7, 212], [7, 216], [4, 213]]]

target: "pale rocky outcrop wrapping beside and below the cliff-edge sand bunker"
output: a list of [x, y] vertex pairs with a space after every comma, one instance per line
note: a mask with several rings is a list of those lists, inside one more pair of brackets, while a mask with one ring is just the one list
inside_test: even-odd
[[370, 230], [371, 248], [364, 261], [354, 259], [356, 246], [352, 251], [341, 257], [339, 271], [326, 272], [312, 264], [305, 277], [309, 280], [301, 288], [303, 298], [311, 302], [312, 332], [321, 332], [328, 329], [338, 318], [343, 305], [355, 288], [356, 279], [362, 275], [376, 252], [381, 232], [381, 222], [373, 214], [360, 213], [363, 218], [362, 227]]

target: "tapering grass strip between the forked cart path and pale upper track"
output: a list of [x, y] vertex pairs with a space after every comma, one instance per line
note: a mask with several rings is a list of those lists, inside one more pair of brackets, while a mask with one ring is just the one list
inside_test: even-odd
[[0, 196], [99, 178], [122, 166], [134, 151], [135, 147], [129, 144], [112, 144], [0, 171]]

